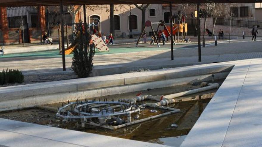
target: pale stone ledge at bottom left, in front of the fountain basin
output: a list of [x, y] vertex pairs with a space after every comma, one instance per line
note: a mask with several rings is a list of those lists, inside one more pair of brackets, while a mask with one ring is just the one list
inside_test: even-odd
[[168, 147], [0, 118], [0, 144], [9, 147]]

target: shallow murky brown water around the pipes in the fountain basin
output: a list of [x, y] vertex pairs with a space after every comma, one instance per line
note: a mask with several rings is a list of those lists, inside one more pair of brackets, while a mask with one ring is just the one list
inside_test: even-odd
[[[223, 80], [216, 81], [216, 83], [221, 84]], [[131, 99], [136, 97], [136, 95], [170, 95], [174, 93], [179, 93], [182, 91], [189, 91], [193, 89], [201, 88], [200, 83], [193, 83], [188, 85], [172, 86], [168, 88], [156, 88], [147, 89], [145, 91], [137, 91], [126, 94], [119, 94], [106, 97], [98, 97], [96, 100], [101, 99], [112, 101], [113, 99]], [[176, 97], [174, 98], [174, 103], [166, 105], [165, 107], [172, 110], [179, 109], [178, 113], [171, 113], [166, 116], [162, 116], [155, 119], [150, 119], [148, 121], [143, 121], [138, 124], [133, 124], [130, 126], [122, 127], [115, 130], [110, 130], [106, 128], [101, 128], [94, 125], [89, 125], [89, 123], [83, 122], [81, 119], [63, 119], [56, 117], [56, 109], [61, 108], [66, 105], [64, 103], [56, 103], [45, 105], [44, 109], [40, 108], [30, 108], [25, 110], [16, 110], [9, 112], [0, 113], [0, 118], [12, 119], [17, 121], [24, 121], [29, 123], [47, 125], [52, 127], [59, 127], [64, 129], [77, 130], [82, 132], [89, 132], [101, 135], [108, 135], [114, 137], [121, 137], [132, 140], [140, 140], [151, 143], [159, 143], [168, 145], [171, 142], [176, 142], [180, 145], [183, 141], [184, 135], [187, 135], [190, 129], [194, 126], [197, 119], [208, 105], [208, 102], [214, 96], [217, 89], [211, 89], [208, 91], [202, 91], [199, 93]], [[78, 100], [78, 101], [84, 101]], [[94, 100], [94, 99], [93, 99]], [[152, 99], [147, 99], [145, 101], [137, 102], [136, 105], [144, 105], [146, 103], [155, 103]], [[131, 104], [130, 104], [131, 106]], [[51, 108], [51, 109], [49, 109]], [[53, 110], [52, 110], [53, 109]], [[150, 118], [157, 115], [168, 113], [168, 110], [163, 110], [160, 108], [140, 108], [140, 113], [131, 114], [132, 121]], [[126, 119], [127, 116], [123, 116]]]

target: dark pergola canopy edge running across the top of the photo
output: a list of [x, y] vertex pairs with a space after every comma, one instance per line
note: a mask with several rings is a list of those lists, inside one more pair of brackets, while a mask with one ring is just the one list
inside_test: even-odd
[[[256, 3], [262, 0], [63, 0], [64, 5], [79, 4], [181, 4], [181, 3]], [[0, 0], [0, 7], [59, 5], [60, 0]]]

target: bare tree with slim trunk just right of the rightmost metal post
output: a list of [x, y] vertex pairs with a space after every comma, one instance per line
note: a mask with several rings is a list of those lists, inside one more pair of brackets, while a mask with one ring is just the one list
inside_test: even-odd
[[205, 31], [206, 31], [206, 24], [207, 24], [207, 19], [208, 16], [210, 16], [210, 13], [213, 11], [215, 7], [215, 4], [213, 3], [205, 3], [201, 5], [201, 12], [202, 12], [202, 16], [204, 17], [204, 27], [203, 27], [203, 38], [202, 38], [202, 45], [203, 47], [205, 47]]

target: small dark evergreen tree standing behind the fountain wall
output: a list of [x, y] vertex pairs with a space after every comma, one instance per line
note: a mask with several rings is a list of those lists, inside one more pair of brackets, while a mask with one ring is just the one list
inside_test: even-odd
[[94, 44], [90, 44], [91, 34], [88, 25], [80, 22], [76, 26], [76, 39], [73, 42], [74, 56], [72, 57], [72, 69], [78, 78], [86, 78], [92, 75]]

